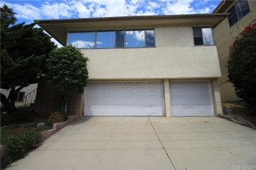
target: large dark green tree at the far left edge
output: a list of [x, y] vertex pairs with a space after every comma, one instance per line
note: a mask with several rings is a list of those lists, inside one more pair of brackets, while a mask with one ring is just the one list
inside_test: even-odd
[[18, 92], [43, 76], [45, 60], [56, 48], [35, 23], [12, 25], [14, 14], [6, 5], [1, 7], [1, 88], [10, 90], [8, 97], [1, 93], [1, 103], [8, 112], [14, 109]]

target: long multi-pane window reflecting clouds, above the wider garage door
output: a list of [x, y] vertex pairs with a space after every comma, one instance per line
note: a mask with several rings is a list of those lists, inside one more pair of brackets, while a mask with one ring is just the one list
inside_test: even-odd
[[155, 46], [154, 29], [69, 32], [76, 48], [144, 48]]

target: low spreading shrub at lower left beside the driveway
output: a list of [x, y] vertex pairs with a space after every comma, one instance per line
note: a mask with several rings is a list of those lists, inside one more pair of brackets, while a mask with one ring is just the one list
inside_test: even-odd
[[16, 158], [27, 148], [39, 146], [42, 140], [43, 135], [36, 127], [1, 128], [1, 144], [9, 158]]

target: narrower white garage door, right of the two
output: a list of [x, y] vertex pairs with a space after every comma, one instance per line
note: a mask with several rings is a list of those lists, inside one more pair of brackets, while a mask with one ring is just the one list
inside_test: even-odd
[[209, 81], [171, 81], [171, 116], [213, 116]]

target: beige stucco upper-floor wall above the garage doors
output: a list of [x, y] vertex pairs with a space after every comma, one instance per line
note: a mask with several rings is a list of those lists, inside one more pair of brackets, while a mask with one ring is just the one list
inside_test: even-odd
[[83, 49], [90, 80], [221, 76], [216, 46], [194, 46], [192, 27], [156, 27], [156, 48]]

